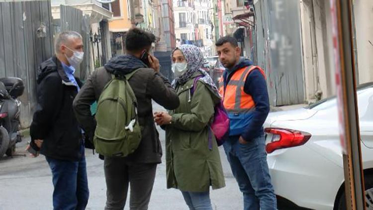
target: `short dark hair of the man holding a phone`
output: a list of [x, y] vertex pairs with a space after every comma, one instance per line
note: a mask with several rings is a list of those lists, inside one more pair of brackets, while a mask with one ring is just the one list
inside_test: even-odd
[[144, 48], [152, 46], [156, 37], [154, 34], [146, 32], [140, 28], [132, 28], [126, 34], [125, 45], [126, 50], [137, 52]]

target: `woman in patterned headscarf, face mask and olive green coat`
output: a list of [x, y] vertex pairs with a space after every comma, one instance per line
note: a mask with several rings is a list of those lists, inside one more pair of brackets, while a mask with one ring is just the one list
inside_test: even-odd
[[212, 210], [209, 189], [225, 186], [220, 155], [210, 130], [214, 106], [221, 98], [211, 77], [201, 69], [203, 55], [194, 45], [172, 53], [173, 86], [180, 106], [155, 113], [166, 129], [167, 188], [179, 189], [190, 210]]

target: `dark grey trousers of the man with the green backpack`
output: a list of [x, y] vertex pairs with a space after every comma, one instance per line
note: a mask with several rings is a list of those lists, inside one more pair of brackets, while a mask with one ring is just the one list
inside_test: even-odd
[[130, 185], [130, 210], [147, 210], [156, 174], [156, 163], [132, 163], [124, 158], [104, 159], [105, 210], [123, 210]]

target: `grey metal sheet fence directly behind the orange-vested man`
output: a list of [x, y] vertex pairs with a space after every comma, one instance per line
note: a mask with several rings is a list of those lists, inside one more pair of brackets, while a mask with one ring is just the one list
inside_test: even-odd
[[271, 105], [304, 103], [300, 3], [258, 0], [257, 64], [265, 69]]

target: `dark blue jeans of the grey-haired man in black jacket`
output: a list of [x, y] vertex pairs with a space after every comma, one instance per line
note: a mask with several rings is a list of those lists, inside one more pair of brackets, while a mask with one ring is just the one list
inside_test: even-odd
[[89, 190], [86, 158], [80, 161], [57, 160], [45, 157], [52, 170], [53, 209], [84, 210], [88, 204]]

